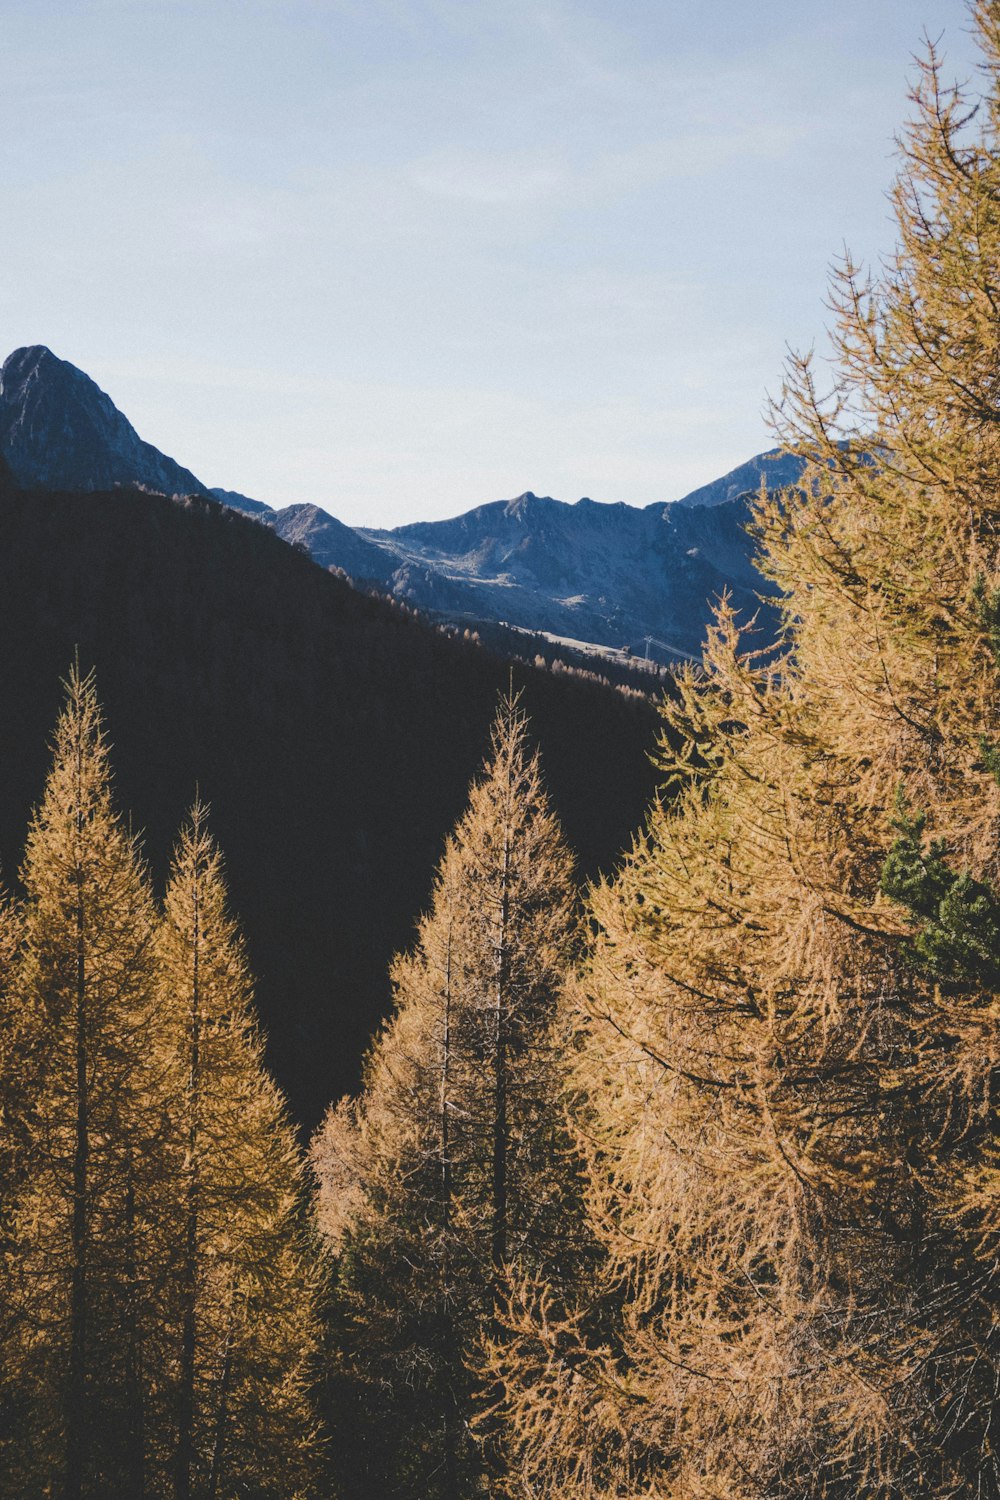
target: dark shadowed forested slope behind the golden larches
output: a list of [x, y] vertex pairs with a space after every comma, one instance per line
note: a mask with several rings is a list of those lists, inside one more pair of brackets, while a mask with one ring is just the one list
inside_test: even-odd
[[157, 885], [199, 789], [303, 1125], [354, 1088], [510, 672], [585, 876], [652, 795], [651, 704], [514, 663], [372, 598], [205, 498], [0, 478], [0, 874], [16, 884], [73, 652]]

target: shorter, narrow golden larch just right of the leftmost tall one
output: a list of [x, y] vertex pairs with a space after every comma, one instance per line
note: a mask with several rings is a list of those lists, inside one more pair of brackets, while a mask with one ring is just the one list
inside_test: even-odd
[[313, 1492], [318, 1246], [303, 1164], [262, 1058], [207, 812], [181, 831], [159, 933], [177, 1172], [171, 1200], [175, 1500]]

